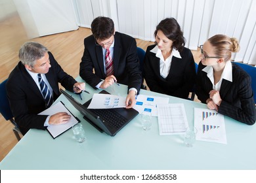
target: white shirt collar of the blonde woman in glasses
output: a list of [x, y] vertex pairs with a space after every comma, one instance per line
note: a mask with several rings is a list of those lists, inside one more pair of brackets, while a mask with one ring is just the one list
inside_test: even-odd
[[[206, 66], [205, 68], [202, 69], [205, 73], [207, 73], [208, 78], [213, 78], [213, 67], [211, 66]], [[226, 65], [224, 67], [223, 73], [221, 75], [221, 78], [228, 80], [230, 82], [233, 81], [232, 78], [232, 63], [231, 61], [226, 61]]]

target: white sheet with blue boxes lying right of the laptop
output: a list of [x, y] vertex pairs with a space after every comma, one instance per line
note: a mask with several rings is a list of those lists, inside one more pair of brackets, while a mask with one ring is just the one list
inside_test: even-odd
[[136, 105], [133, 107], [140, 114], [143, 111], [151, 112], [151, 116], [158, 116], [157, 105], [169, 103], [169, 98], [167, 97], [156, 97], [149, 95], [137, 95]]

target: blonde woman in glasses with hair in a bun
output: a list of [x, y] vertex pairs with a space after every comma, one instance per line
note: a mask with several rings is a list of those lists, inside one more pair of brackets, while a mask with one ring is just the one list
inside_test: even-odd
[[230, 61], [239, 51], [235, 38], [214, 35], [201, 48], [196, 95], [209, 109], [247, 125], [255, 124], [256, 110], [251, 77]]

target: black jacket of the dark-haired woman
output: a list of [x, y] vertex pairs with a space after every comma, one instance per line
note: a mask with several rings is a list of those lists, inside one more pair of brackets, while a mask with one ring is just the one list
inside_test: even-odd
[[148, 88], [153, 92], [164, 93], [187, 99], [189, 92], [196, 82], [196, 68], [192, 52], [183, 48], [181, 59], [173, 57], [169, 75], [160, 75], [160, 58], [150, 52], [156, 44], [148, 46], [144, 58], [144, 78]]

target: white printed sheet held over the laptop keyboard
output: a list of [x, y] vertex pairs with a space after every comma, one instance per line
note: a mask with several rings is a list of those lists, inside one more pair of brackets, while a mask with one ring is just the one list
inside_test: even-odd
[[126, 107], [126, 97], [118, 95], [95, 93], [88, 108], [121, 108]]

